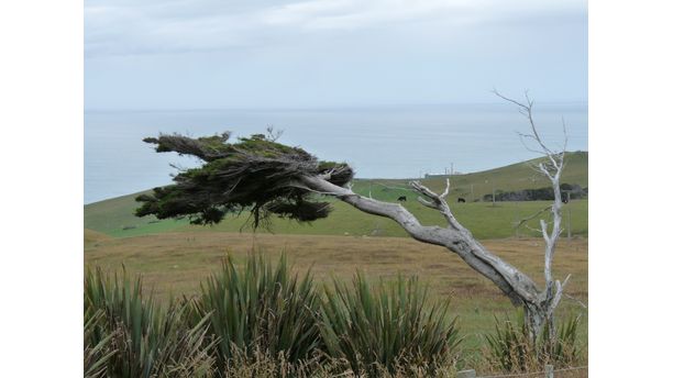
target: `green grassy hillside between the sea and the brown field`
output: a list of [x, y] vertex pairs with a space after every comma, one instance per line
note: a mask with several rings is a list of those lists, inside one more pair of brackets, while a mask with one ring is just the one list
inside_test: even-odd
[[[514, 223], [543, 209], [547, 205], [545, 202], [498, 202], [494, 207], [489, 202], [472, 202], [472, 200], [490, 193], [494, 188], [512, 191], [549, 186], [540, 175], [536, 175], [531, 169], [531, 163], [534, 163], [534, 160], [482, 173], [453, 176], [449, 201], [455, 203], [459, 197], [468, 201], [468, 203], [456, 203], [452, 207], [459, 221], [472, 230], [478, 238], [515, 236]], [[567, 155], [567, 166], [562, 182], [577, 184], [582, 187], [588, 185], [588, 153]], [[444, 179], [430, 178], [423, 180], [423, 184], [441, 191]], [[405, 207], [415, 213], [421, 222], [443, 224], [442, 216], [438, 212], [423, 208], [415, 200], [416, 194], [409, 189], [408, 180], [361, 179], [355, 180], [353, 190], [363, 196], [371, 194], [372, 198], [384, 201], [396, 201], [398, 197], [406, 196], [408, 201], [404, 203]], [[136, 218], [133, 215], [133, 211], [137, 207], [134, 201], [136, 196], [137, 193], [85, 205], [85, 227], [114, 237], [126, 237], [168, 231], [239, 232], [245, 225], [246, 215], [228, 219], [212, 227], [189, 225], [186, 220], [157, 221], [154, 216]], [[312, 224], [297, 224], [291, 221], [276, 220], [272, 231], [279, 234], [406, 235], [402, 229], [393, 221], [365, 214], [340, 201], [334, 201], [333, 205], [334, 211], [326, 220]], [[573, 201], [564, 208], [566, 211], [565, 219], [567, 221], [570, 218], [573, 235], [588, 236], [587, 208], [588, 202], [586, 200]], [[539, 223], [533, 222], [533, 225]], [[265, 231], [262, 231], [262, 233], [265, 233]], [[533, 235], [533, 233], [521, 230], [520, 235]]]

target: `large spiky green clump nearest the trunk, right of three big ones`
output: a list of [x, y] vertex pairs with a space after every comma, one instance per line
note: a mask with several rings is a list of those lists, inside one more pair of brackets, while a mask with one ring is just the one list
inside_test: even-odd
[[455, 319], [448, 321], [446, 302], [428, 311], [427, 299], [416, 278], [375, 288], [360, 273], [352, 288], [334, 281], [321, 311], [328, 354], [371, 377], [450, 364], [460, 343]]

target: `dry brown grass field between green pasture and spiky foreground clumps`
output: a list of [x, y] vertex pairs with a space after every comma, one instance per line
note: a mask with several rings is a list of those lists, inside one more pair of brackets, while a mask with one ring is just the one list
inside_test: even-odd
[[[554, 274], [572, 278], [566, 292], [587, 301], [587, 240], [563, 240], [558, 248]], [[538, 238], [494, 240], [484, 245], [538, 282], [542, 282], [543, 242]], [[318, 279], [336, 277], [350, 280], [356, 269], [368, 277], [418, 275], [435, 298], [451, 298], [460, 315], [466, 345], [476, 347], [484, 332], [493, 329], [493, 316], [512, 316], [509, 301], [495, 288], [446, 249], [406, 237], [354, 237], [319, 235], [269, 235], [249, 233], [165, 233], [129, 238], [99, 238], [85, 247], [85, 264], [142, 273], [145, 282], [159, 298], [192, 294], [199, 282], [217, 269], [231, 253], [242, 258], [252, 249], [276, 258], [288, 255], [295, 269], [311, 267]], [[571, 299], [561, 312], [585, 311]], [[584, 319], [586, 332], [586, 316]]]

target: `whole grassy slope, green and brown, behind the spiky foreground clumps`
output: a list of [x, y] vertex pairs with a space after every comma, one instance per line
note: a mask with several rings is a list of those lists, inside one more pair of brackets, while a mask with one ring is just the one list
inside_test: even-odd
[[[587, 153], [569, 155], [562, 182], [587, 187]], [[539, 286], [543, 285], [543, 241], [528, 229], [515, 231], [514, 223], [548, 205], [542, 201], [492, 202], [473, 200], [496, 190], [514, 191], [548, 186], [534, 177], [531, 162], [451, 178], [449, 201], [460, 222], [473, 234], [485, 240], [484, 245], [505, 260], [520, 268]], [[532, 162], [534, 163], [534, 162]], [[534, 178], [534, 180], [533, 180]], [[423, 180], [441, 190], [443, 178]], [[384, 201], [401, 202], [424, 224], [445, 224], [437, 211], [416, 201], [408, 180], [360, 179], [354, 190]], [[474, 193], [474, 194], [473, 194]], [[459, 256], [445, 248], [418, 243], [394, 222], [365, 214], [340, 201], [333, 201], [333, 213], [326, 220], [305, 225], [277, 220], [273, 232], [241, 227], [245, 214], [227, 219], [216, 226], [195, 226], [187, 220], [136, 218], [137, 207], [131, 194], [85, 207], [85, 265], [109, 271], [122, 267], [132, 275], [142, 274], [159, 299], [191, 296], [199, 282], [217, 269], [231, 254], [242, 262], [251, 252], [262, 252], [274, 258], [286, 253], [297, 271], [311, 269], [316, 278], [329, 282], [335, 278], [349, 281], [356, 270], [369, 278], [394, 279], [397, 275], [418, 276], [429, 286], [433, 299], [451, 300], [452, 314], [459, 316], [466, 349], [481, 351], [483, 334], [493, 332], [494, 315], [514, 319], [516, 312], [508, 299], [486, 278], [471, 269]], [[471, 197], [473, 196], [473, 197]], [[466, 203], [457, 203], [457, 198]], [[575, 300], [563, 300], [560, 315], [582, 314], [580, 340], [587, 343], [588, 303], [588, 226], [587, 200], [571, 201], [564, 209], [565, 225], [572, 238], [563, 238], [556, 249], [554, 276], [572, 275], [566, 293]], [[570, 222], [569, 222], [570, 220]], [[539, 222], [531, 221], [536, 227]], [[566, 234], [564, 233], [564, 236]]]

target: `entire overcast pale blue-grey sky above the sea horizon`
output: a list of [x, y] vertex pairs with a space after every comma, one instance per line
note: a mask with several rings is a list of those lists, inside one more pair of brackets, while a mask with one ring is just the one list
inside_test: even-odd
[[85, 107], [586, 101], [576, 0], [85, 0]]

